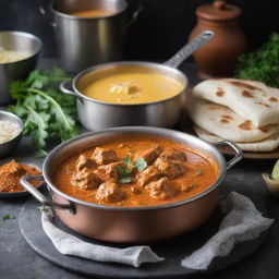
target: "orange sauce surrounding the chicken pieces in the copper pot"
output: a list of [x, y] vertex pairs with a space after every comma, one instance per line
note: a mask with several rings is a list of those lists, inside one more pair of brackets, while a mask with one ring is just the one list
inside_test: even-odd
[[[171, 180], [171, 183], [177, 187], [177, 190], [179, 190], [178, 194], [169, 199], [160, 201], [151, 197], [146, 189], [143, 189], [141, 194], [133, 193], [131, 187], [134, 183], [126, 183], [120, 184], [121, 190], [125, 192], [125, 199], [108, 205], [140, 207], [174, 203], [204, 192], [216, 181], [219, 171], [217, 165], [214, 161], [208, 161], [205, 156], [181, 143], [160, 137], [131, 136], [129, 138], [123, 137], [113, 142], [102, 143], [98, 145], [98, 147], [112, 148], [119, 158], [124, 158], [128, 154], [133, 157], [133, 155], [137, 155], [138, 153], [150, 148], [154, 144], [159, 144], [163, 148], [175, 148], [178, 150], [182, 150], [187, 156], [187, 160], [185, 162], [181, 162], [185, 167], [185, 173]], [[70, 196], [74, 196], [86, 202], [99, 203], [99, 201], [95, 198], [97, 190], [80, 190], [71, 184], [71, 175], [74, 172], [78, 156], [83, 154], [90, 158], [94, 149], [95, 147], [87, 148], [65, 158], [53, 171], [52, 183]], [[202, 170], [201, 175], [196, 175], [197, 170]], [[187, 191], [181, 191], [183, 186], [187, 185], [195, 186], [190, 187]]]

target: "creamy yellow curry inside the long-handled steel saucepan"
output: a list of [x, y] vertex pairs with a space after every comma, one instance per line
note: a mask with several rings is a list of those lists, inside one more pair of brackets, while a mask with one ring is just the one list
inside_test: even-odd
[[183, 85], [173, 77], [143, 69], [131, 68], [99, 76], [81, 86], [81, 92], [93, 99], [111, 104], [145, 104], [178, 95]]

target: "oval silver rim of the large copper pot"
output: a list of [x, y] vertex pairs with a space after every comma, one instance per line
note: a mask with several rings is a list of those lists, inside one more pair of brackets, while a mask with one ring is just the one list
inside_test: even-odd
[[[98, 135], [104, 135], [106, 133], [112, 133], [112, 134], [118, 134], [118, 133], [146, 133], [148, 135], [158, 135], [158, 136], [167, 136], [170, 140], [177, 138], [178, 141], [181, 140], [181, 137], [186, 137], [191, 141], [198, 141], [199, 143], [202, 143], [203, 145], [209, 147], [209, 149], [211, 149], [213, 153], [215, 153], [215, 155], [217, 155], [218, 157], [218, 165], [219, 167], [219, 174], [216, 179], [216, 181], [208, 186], [204, 192], [186, 198], [186, 199], [182, 199], [175, 203], [167, 203], [163, 205], [155, 205], [155, 206], [142, 206], [142, 207], [122, 207], [122, 206], [108, 206], [108, 205], [100, 205], [100, 204], [95, 204], [95, 203], [89, 203], [89, 202], [85, 202], [82, 201], [80, 198], [70, 196], [65, 193], [63, 193], [62, 191], [60, 191], [56, 185], [53, 185], [51, 183], [50, 177], [49, 177], [49, 165], [51, 163], [51, 160], [54, 156], [57, 156], [57, 154], [61, 153], [63, 147], [69, 146], [71, 144], [73, 144], [74, 142], [77, 142], [82, 138], [86, 138], [86, 137], [90, 137], [93, 135], [98, 136]], [[170, 134], [172, 135], [172, 137], [170, 136]], [[169, 135], [168, 135], [169, 134]], [[175, 140], [174, 140], [175, 141]], [[209, 154], [210, 156], [210, 154]], [[154, 209], [165, 209], [165, 208], [169, 208], [169, 207], [178, 207], [178, 206], [182, 206], [189, 203], [192, 203], [198, 198], [202, 198], [203, 196], [207, 195], [208, 193], [210, 193], [211, 191], [214, 191], [217, 186], [219, 186], [219, 184], [221, 183], [221, 181], [223, 180], [225, 175], [227, 173], [227, 169], [226, 169], [226, 160], [223, 155], [218, 150], [217, 147], [215, 147], [214, 145], [194, 136], [187, 133], [183, 133], [183, 132], [179, 132], [179, 131], [174, 131], [174, 130], [169, 130], [169, 129], [162, 129], [162, 128], [148, 128], [148, 126], [125, 126], [125, 128], [112, 128], [112, 129], [106, 129], [106, 130], [101, 130], [101, 131], [97, 131], [97, 132], [89, 132], [89, 133], [85, 133], [82, 134], [80, 136], [76, 136], [74, 138], [71, 138], [60, 145], [58, 145], [54, 149], [51, 150], [51, 153], [47, 156], [47, 158], [44, 161], [43, 165], [43, 175], [44, 179], [46, 181], [46, 183], [49, 185], [49, 187], [54, 191], [57, 194], [61, 195], [62, 197], [64, 197], [65, 199], [71, 202], [74, 202], [76, 204], [80, 205], [84, 205], [84, 206], [89, 206], [89, 207], [94, 207], [97, 209], [107, 209], [107, 210], [154, 210]]]

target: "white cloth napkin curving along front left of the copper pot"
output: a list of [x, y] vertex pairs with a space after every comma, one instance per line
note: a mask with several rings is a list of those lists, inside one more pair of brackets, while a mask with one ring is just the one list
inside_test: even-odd
[[162, 257], [158, 257], [148, 246], [114, 248], [85, 242], [57, 228], [46, 214], [41, 215], [41, 225], [54, 247], [64, 255], [84, 257], [97, 262], [121, 263], [134, 267], [138, 267], [143, 263], [163, 260]]

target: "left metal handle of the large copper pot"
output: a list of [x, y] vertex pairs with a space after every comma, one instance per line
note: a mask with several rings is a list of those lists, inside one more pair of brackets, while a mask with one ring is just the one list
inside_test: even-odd
[[70, 213], [75, 214], [75, 206], [73, 204], [59, 204], [50, 201], [41, 194], [29, 181], [45, 181], [43, 175], [24, 175], [21, 178], [21, 184], [41, 204], [51, 208], [68, 209]]

